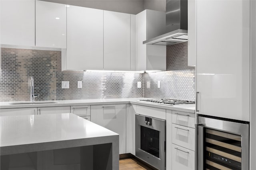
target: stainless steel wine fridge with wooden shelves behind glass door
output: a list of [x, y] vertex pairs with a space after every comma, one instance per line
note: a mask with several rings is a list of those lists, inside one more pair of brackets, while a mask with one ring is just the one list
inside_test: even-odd
[[198, 116], [197, 169], [248, 170], [249, 123]]

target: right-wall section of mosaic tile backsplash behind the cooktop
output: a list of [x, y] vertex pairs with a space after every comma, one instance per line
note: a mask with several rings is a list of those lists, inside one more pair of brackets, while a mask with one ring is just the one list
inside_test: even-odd
[[144, 97], [195, 101], [195, 68], [188, 66], [187, 42], [166, 47], [166, 70], [144, 74]]

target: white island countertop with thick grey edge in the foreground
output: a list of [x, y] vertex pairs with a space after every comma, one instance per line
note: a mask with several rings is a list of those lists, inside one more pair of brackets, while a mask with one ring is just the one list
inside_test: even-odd
[[85, 146], [102, 137], [118, 137], [72, 113], [4, 116], [0, 126], [1, 155]]

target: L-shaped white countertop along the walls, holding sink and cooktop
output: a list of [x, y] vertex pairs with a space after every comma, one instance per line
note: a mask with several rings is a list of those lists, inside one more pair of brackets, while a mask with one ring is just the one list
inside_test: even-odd
[[118, 98], [118, 99], [88, 99], [88, 100], [53, 100], [46, 104], [10, 104], [14, 102], [0, 102], [1, 109], [7, 108], [25, 108], [25, 107], [54, 107], [54, 106], [81, 106], [81, 105], [102, 105], [102, 104], [137, 104], [149, 107], [158, 107], [176, 111], [186, 111], [195, 113], [195, 105], [168, 106], [154, 103], [138, 102], [140, 99], [147, 98]]

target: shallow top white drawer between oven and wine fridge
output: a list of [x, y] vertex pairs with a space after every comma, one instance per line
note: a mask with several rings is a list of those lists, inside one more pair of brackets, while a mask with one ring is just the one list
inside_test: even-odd
[[172, 123], [195, 128], [195, 114], [173, 110]]

